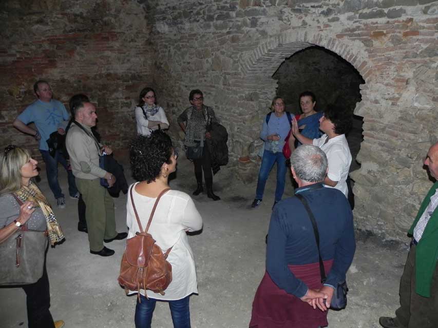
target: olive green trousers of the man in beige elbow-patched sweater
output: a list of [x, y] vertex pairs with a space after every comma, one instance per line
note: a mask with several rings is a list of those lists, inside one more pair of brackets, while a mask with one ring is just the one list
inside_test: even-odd
[[114, 202], [106, 188], [100, 185], [100, 179], [76, 178], [76, 185], [86, 206], [85, 219], [90, 250], [99, 252], [104, 247], [104, 239], [111, 239], [117, 235]]

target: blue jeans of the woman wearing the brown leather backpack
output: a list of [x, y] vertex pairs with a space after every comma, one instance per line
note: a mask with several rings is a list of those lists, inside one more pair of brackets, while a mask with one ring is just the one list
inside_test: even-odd
[[[154, 298], [147, 299], [143, 295], [140, 295], [140, 299], [141, 303], [137, 300], [136, 306], [136, 328], [150, 328], [157, 300]], [[190, 328], [189, 300], [190, 296], [186, 296], [176, 301], [167, 301], [174, 328]]]

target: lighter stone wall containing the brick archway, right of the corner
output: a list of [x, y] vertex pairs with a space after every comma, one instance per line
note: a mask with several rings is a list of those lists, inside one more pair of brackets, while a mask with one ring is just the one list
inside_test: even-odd
[[320, 46], [349, 61], [366, 82], [355, 109], [365, 130], [352, 174], [356, 227], [403, 238], [431, 185], [422, 160], [438, 139], [436, 1], [169, 0], [155, 19], [156, 83], [169, 116], [189, 105], [189, 90], [203, 90], [230, 133], [231, 163], [250, 156], [239, 176], [252, 180], [283, 60]]

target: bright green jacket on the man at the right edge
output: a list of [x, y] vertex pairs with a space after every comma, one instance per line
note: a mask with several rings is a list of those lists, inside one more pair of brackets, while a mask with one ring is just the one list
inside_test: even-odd
[[[430, 202], [430, 197], [435, 194], [438, 188], [436, 181], [432, 188], [427, 193], [421, 204], [420, 210], [412, 223], [408, 234], [413, 235], [414, 228], [422, 216], [424, 210]], [[430, 285], [432, 276], [436, 268], [436, 259], [438, 257], [438, 207], [433, 211], [432, 216], [427, 222], [427, 226], [423, 232], [423, 236], [416, 245], [415, 250], [415, 292], [424, 297], [430, 297]]]

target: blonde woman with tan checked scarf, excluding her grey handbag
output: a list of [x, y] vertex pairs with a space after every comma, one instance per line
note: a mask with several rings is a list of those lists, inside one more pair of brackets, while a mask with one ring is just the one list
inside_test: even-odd
[[[52, 246], [64, 239], [52, 208], [41, 190], [31, 181], [38, 175], [37, 161], [23, 148], [8, 146], [0, 154], [0, 243], [12, 238], [19, 229], [47, 232]], [[36, 282], [22, 285], [26, 293], [29, 328], [60, 328], [64, 321], [53, 322], [50, 314], [49, 279], [46, 270]], [[2, 281], [0, 281], [2, 283]]]

